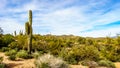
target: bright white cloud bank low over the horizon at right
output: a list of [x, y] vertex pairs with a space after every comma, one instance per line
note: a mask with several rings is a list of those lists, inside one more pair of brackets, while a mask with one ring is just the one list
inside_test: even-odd
[[116, 36], [120, 33], [120, 28], [114, 27], [109, 29], [94, 30], [90, 32], [83, 32], [80, 35], [84, 37], [106, 37], [106, 36]]

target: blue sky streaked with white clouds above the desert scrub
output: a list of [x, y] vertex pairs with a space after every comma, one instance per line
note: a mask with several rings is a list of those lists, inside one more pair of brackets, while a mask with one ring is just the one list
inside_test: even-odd
[[24, 31], [33, 11], [36, 34], [115, 36], [120, 33], [120, 0], [0, 0], [4, 33]]

